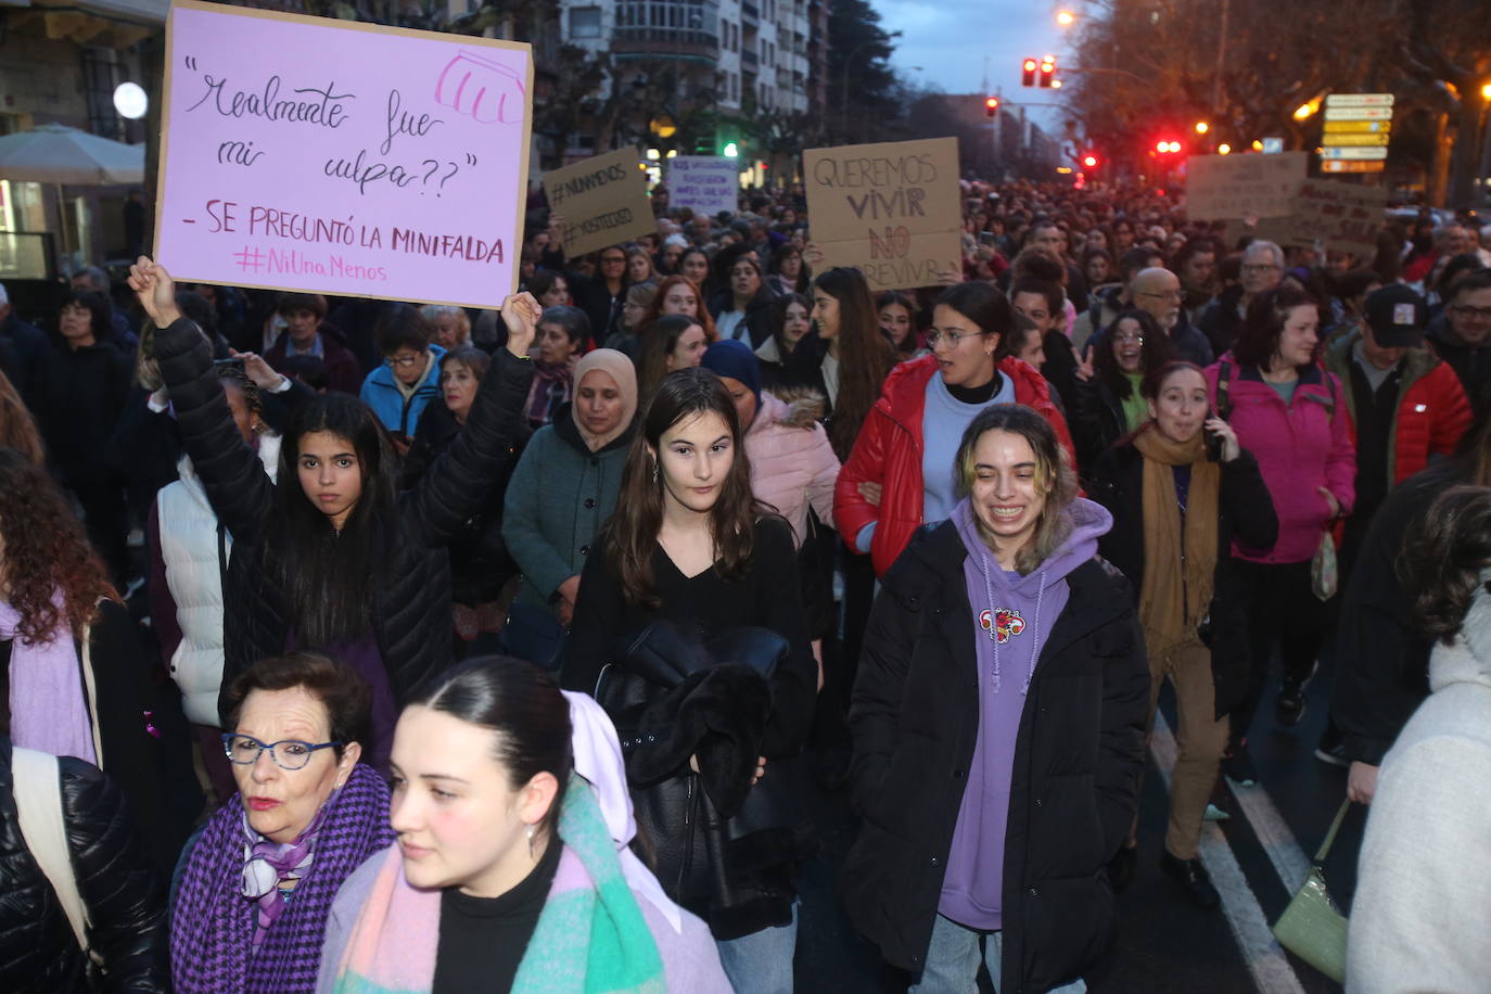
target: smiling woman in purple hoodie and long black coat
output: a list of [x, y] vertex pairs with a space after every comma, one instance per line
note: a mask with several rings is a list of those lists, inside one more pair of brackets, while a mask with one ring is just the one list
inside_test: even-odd
[[1084, 991], [1112, 934], [1105, 864], [1138, 806], [1150, 674], [1050, 423], [968, 426], [963, 499], [883, 578], [850, 729], [856, 927], [915, 991]]

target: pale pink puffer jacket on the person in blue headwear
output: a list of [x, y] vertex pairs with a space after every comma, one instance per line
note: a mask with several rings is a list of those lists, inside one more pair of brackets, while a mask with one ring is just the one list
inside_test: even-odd
[[750, 486], [757, 501], [771, 504], [792, 525], [802, 544], [808, 531], [808, 505], [833, 528], [833, 483], [839, 462], [828, 432], [817, 422], [823, 395], [811, 390], [760, 393], [756, 420], [746, 431]]

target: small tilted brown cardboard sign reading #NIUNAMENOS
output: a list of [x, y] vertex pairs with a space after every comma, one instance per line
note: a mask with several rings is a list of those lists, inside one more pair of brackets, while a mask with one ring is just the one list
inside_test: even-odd
[[564, 218], [567, 256], [656, 231], [637, 159], [637, 149], [626, 148], [544, 173], [549, 209]]

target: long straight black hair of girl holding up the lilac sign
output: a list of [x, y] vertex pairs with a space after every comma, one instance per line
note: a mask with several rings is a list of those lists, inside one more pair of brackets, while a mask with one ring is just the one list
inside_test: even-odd
[[[328, 432], [352, 443], [362, 495], [338, 534], [331, 519], [300, 484], [300, 446], [309, 432]], [[358, 639], [373, 627], [374, 593], [386, 581], [388, 535], [397, 528], [394, 495], [398, 453], [388, 431], [362, 401], [325, 393], [291, 417], [280, 446], [276, 516], [268, 541], [273, 580], [289, 595], [297, 642], [325, 648]]]

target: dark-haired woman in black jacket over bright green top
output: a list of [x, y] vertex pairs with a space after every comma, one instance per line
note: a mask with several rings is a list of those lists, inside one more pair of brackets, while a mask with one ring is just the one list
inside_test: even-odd
[[1087, 480], [1097, 458], [1150, 420], [1141, 384], [1175, 358], [1170, 337], [1142, 310], [1126, 310], [1093, 341], [1072, 383], [1072, 440]]

